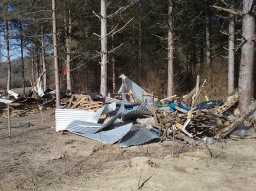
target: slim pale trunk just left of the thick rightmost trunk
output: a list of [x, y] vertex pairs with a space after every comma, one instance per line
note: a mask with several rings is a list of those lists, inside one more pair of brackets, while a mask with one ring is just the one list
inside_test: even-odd
[[229, 13], [228, 23], [228, 93], [234, 90], [234, 15]]

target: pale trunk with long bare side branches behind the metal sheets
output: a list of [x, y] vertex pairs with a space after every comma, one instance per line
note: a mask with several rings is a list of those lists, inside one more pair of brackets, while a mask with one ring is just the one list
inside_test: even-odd
[[100, 62], [100, 94], [106, 96], [107, 88], [107, 36], [106, 36], [106, 0], [100, 0], [101, 22], [101, 62]]

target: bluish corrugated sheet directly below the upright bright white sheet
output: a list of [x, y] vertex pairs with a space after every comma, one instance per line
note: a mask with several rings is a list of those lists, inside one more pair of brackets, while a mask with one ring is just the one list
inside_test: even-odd
[[[95, 127], [95, 126], [98, 126], [98, 127]], [[100, 127], [101, 127], [101, 124], [98, 124], [98, 123], [87, 122], [82, 120], [74, 120], [66, 126], [66, 130], [69, 130], [72, 132], [84, 133], [84, 134], [93, 134], [97, 132], [100, 129]]]

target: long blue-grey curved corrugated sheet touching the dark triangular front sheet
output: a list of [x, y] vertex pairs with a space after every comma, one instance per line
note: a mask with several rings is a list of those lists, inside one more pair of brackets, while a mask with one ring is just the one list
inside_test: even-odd
[[130, 130], [131, 125], [132, 123], [128, 123], [111, 130], [101, 131], [94, 134], [85, 134], [77, 132], [74, 133], [79, 134], [81, 136], [85, 136], [87, 138], [91, 138], [93, 140], [97, 140], [105, 144], [113, 144], [114, 142], [120, 140], [120, 138], [122, 138]]

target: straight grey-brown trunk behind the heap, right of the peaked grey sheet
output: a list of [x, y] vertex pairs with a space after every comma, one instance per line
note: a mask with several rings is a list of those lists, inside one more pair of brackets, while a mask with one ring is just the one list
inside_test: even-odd
[[167, 80], [167, 96], [173, 95], [173, 0], [169, 0], [168, 4], [168, 80]]

